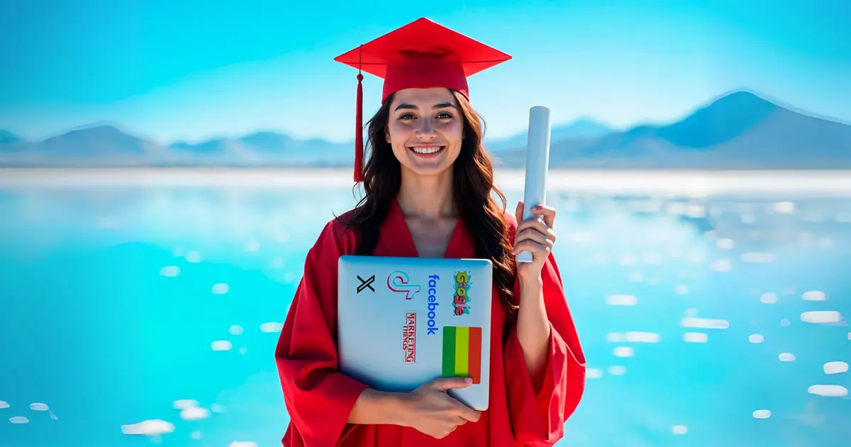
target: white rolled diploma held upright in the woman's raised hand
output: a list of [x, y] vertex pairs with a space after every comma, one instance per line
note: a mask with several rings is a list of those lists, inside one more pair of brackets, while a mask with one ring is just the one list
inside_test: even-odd
[[[534, 206], [546, 203], [546, 172], [550, 166], [550, 131], [550, 109], [545, 106], [534, 106], [529, 109], [523, 220], [533, 216], [530, 210]], [[517, 254], [517, 262], [532, 262], [532, 252], [521, 251]]]

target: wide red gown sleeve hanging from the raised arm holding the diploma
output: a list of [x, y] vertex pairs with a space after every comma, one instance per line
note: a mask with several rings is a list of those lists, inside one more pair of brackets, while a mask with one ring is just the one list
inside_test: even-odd
[[[541, 269], [544, 304], [550, 320], [550, 353], [544, 380], [533, 384], [511, 324], [505, 341], [505, 388], [517, 445], [553, 445], [564, 435], [564, 421], [585, 391], [585, 354], [564, 295], [562, 278], [550, 254]], [[516, 285], [515, 293], [520, 289]], [[521, 297], [522, 299], [522, 297]], [[520, 304], [523, 306], [523, 303]], [[540, 389], [536, 389], [540, 388]]]

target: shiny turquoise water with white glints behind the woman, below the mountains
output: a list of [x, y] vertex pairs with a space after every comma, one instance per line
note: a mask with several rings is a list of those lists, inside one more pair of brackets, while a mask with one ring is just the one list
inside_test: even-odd
[[[335, 186], [0, 189], [0, 447], [279, 445], [277, 331], [306, 249], [352, 203]], [[848, 442], [851, 198], [550, 203], [589, 362], [559, 445]]]

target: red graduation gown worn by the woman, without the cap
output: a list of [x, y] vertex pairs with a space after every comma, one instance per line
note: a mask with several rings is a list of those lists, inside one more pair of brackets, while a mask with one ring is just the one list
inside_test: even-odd
[[[517, 220], [508, 213], [506, 217], [513, 239]], [[347, 424], [351, 407], [366, 388], [337, 371], [334, 345], [337, 261], [340, 255], [353, 253], [355, 243], [352, 232], [344, 232], [340, 222], [330, 221], [307, 254], [304, 277], [275, 352], [284, 402], [291, 418], [283, 445], [513, 447], [552, 445], [563, 437], [563, 423], [576, 409], [585, 388], [585, 356], [552, 256], [541, 272], [551, 338], [545, 380], [539, 393], [535, 393], [529, 378], [514, 324], [506, 323], [505, 310], [494, 291], [490, 404], [479, 421], [467, 422], [443, 439], [431, 438], [409, 427]], [[402, 209], [395, 200], [381, 227], [380, 243], [374, 255], [418, 255]], [[459, 221], [444, 257], [473, 255], [472, 238], [463, 221]], [[519, 284], [515, 284], [514, 291], [519, 296]]]

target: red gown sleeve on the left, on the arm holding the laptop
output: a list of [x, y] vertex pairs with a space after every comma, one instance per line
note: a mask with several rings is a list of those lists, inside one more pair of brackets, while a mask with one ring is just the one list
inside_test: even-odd
[[328, 223], [308, 251], [275, 350], [283, 398], [290, 416], [284, 445], [338, 444], [357, 398], [367, 388], [337, 371], [337, 261], [340, 231]]

